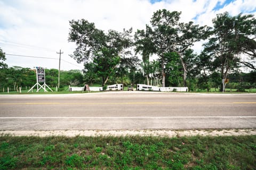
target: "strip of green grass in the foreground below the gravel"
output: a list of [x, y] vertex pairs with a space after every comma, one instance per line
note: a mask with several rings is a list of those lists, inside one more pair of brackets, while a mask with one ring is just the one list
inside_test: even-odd
[[256, 169], [256, 135], [0, 137], [0, 169]]

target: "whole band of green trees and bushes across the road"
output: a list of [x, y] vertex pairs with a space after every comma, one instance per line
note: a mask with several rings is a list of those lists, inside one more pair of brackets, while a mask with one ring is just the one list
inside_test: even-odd
[[[77, 47], [70, 56], [84, 69], [61, 71], [60, 89], [84, 84], [148, 84], [188, 87], [189, 91], [245, 92], [256, 89], [256, 19], [251, 14], [217, 14], [212, 27], [181, 22], [181, 12], [158, 10], [145, 29], [103, 31], [86, 19], [69, 21], [68, 41]], [[67, 23], [68, 24], [68, 23]], [[199, 54], [191, 49], [204, 41]], [[153, 57], [154, 56], [154, 57]], [[0, 47], [0, 92], [32, 87], [33, 70], [8, 67]], [[46, 69], [46, 84], [58, 85], [58, 70]], [[247, 90], [246, 90], [247, 89]]]

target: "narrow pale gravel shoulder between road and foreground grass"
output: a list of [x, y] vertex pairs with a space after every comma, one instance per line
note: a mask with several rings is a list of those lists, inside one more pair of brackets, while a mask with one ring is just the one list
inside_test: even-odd
[[155, 137], [189, 137], [189, 136], [237, 136], [256, 135], [256, 129], [191, 129], [191, 130], [54, 130], [54, 131], [0, 131], [1, 135], [12, 136], [66, 136], [97, 137], [97, 136], [155, 136]]

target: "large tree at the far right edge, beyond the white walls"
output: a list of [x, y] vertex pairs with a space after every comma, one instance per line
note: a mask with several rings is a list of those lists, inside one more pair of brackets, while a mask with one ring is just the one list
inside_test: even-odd
[[221, 79], [227, 79], [228, 73], [237, 69], [239, 63], [252, 66], [241, 61], [240, 55], [245, 53], [253, 56], [255, 48], [251, 45], [256, 38], [255, 25], [252, 15], [239, 14], [232, 17], [225, 12], [213, 19], [212, 35], [204, 45], [204, 53], [213, 57], [213, 65], [220, 71]]

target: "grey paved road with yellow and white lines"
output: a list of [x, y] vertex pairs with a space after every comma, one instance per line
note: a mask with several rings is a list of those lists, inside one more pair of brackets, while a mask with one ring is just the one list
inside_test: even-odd
[[0, 130], [256, 128], [255, 94], [2, 95]]

